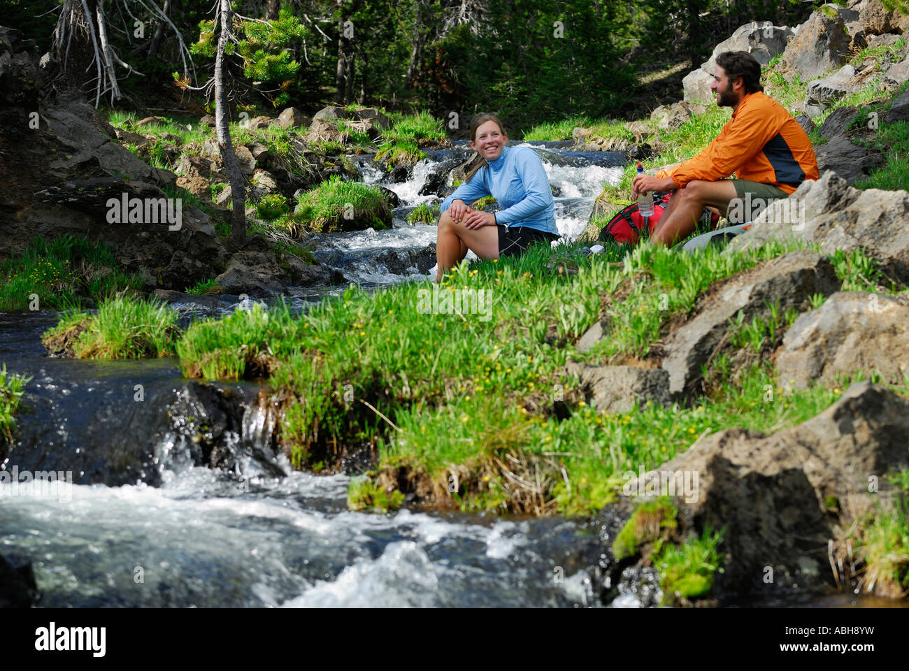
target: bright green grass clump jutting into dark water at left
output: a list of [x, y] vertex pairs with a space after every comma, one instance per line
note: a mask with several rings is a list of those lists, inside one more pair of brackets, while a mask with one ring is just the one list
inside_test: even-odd
[[55, 340], [84, 328], [72, 342], [81, 359], [139, 359], [174, 354], [179, 333], [177, 313], [155, 300], [116, 296], [106, 300], [96, 315], [74, 311], [61, 315], [60, 323], [42, 339]]

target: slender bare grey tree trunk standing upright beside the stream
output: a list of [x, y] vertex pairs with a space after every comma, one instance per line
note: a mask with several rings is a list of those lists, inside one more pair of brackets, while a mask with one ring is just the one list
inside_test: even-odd
[[227, 181], [230, 182], [231, 204], [234, 208], [231, 214], [231, 231], [228, 245], [238, 247], [246, 239], [246, 183], [240, 164], [236, 160], [234, 143], [230, 137], [230, 119], [227, 116], [227, 89], [225, 87], [225, 48], [230, 39], [230, 27], [233, 24], [234, 12], [230, 0], [219, 0], [221, 18], [221, 34], [218, 36], [218, 51], [215, 55], [215, 131], [218, 137], [218, 147], [221, 150], [221, 160], [225, 164]]

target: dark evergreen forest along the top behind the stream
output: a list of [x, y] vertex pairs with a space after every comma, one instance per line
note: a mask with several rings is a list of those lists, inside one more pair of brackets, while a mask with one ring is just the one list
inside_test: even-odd
[[[117, 106], [141, 106], [175, 89], [180, 63], [172, 28], [142, 0], [103, 2], [108, 37], [130, 75]], [[214, 0], [158, 1], [186, 45], [196, 79], [214, 62]], [[816, 3], [821, 5], [822, 3]], [[53, 50], [60, 0], [5, 0], [0, 22]], [[81, 2], [79, 3], [81, 5]], [[245, 38], [231, 60], [233, 102], [260, 114], [326, 103], [425, 109], [446, 118], [492, 110], [521, 126], [572, 115], [630, 116], [681, 97], [682, 75], [753, 20], [796, 25], [815, 8], [802, 0], [258, 0], [238, 15]], [[144, 35], [135, 37], [135, 21]], [[349, 22], [349, 23], [348, 23]], [[558, 23], [561, 22], [561, 23]], [[206, 31], [209, 31], [206, 42]], [[90, 65], [87, 64], [87, 65]], [[70, 73], [75, 70], [71, 69]], [[92, 87], [85, 75], [85, 90]], [[125, 68], [120, 71], [126, 75]], [[195, 82], [193, 82], [195, 84]], [[672, 90], [670, 90], [670, 88]]]

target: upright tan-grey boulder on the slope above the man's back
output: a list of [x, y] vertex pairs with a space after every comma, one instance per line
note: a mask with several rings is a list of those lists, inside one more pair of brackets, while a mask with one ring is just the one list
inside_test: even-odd
[[778, 70], [786, 76], [798, 73], [804, 81], [810, 81], [843, 65], [848, 49], [843, 16], [817, 11], [799, 26], [780, 58]]

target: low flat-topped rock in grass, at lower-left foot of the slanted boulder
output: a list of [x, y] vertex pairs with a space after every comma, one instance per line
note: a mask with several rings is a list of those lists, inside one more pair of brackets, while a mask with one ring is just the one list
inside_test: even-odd
[[569, 359], [565, 372], [578, 376], [581, 393], [598, 412], [628, 413], [647, 401], [661, 406], [672, 401], [669, 374], [662, 368], [590, 366]]

